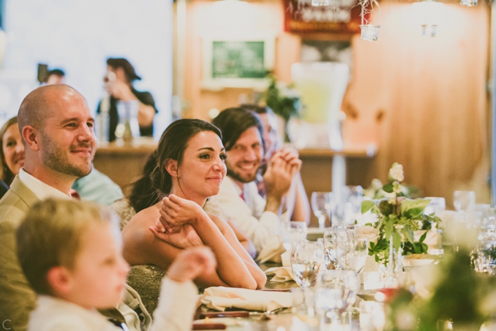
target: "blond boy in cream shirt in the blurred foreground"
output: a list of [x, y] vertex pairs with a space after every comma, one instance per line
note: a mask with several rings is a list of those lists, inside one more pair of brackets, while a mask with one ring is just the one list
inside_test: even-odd
[[[33, 206], [17, 230], [19, 263], [38, 297], [28, 330], [121, 330], [96, 309], [121, 299], [129, 265], [112, 214], [94, 203], [48, 199]], [[152, 330], [191, 330], [201, 272], [215, 268], [205, 248], [171, 265]]]

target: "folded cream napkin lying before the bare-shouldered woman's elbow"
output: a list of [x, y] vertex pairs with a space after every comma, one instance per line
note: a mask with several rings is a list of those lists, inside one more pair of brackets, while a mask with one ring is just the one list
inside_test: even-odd
[[245, 288], [225, 288], [223, 286], [205, 289], [201, 302], [207, 308], [224, 311], [226, 308], [246, 310], [274, 310], [293, 306], [289, 292], [247, 290]]

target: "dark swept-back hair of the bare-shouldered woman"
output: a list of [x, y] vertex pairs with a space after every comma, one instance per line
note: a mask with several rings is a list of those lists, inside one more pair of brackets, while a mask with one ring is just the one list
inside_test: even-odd
[[158, 148], [145, 164], [143, 177], [132, 186], [129, 199], [136, 212], [158, 203], [170, 192], [172, 177], [165, 169], [165, 164], [172, 159], [180, 165], [189, 139], [203, 131], [214, 132], [222, 140], [220, 130], [201, 119], [178, 119], [165, 129]]

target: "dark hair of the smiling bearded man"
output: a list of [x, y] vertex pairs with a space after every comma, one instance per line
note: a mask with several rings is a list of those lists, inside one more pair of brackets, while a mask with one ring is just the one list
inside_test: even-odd
[[227, 108], [212, 120], [212, 124], [222, 132], [223, 145], [226, 150], [233, 148], [240, 135], [254, 126], [258, 129], [258, 132], [260, 132], [262, 146], [265, 148], [262, 122], [258, 118], [258, 115], [251, 110], [243, 107]]

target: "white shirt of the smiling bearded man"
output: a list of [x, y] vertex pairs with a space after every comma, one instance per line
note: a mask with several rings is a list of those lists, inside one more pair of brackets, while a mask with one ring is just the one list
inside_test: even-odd
[[[240, 195], [243, 192], [245, 200]], [[257, 252], [277, 234], [281, 221], [277, 214], [265, 211], [265, 199], [260, 197], [255, 182], [243, 185], [243, 190], [226, 176], [218, 194], [213, 197], [225, 214], [254, 243]]]

